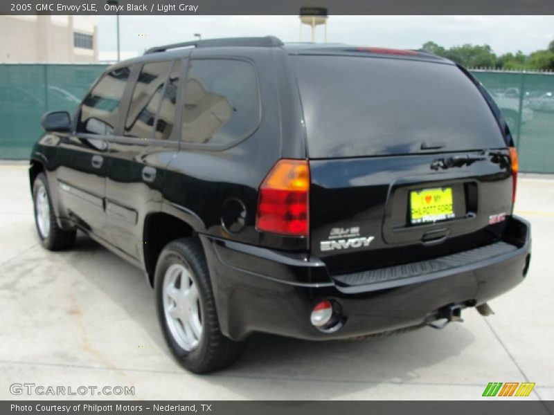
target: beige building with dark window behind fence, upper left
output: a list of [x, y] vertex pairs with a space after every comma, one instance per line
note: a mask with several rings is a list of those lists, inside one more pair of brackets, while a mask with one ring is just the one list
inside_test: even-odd
[[0, 16], [2, 62], [97, 62], [96, 16]]

